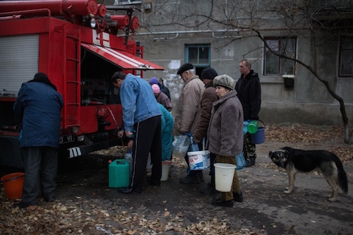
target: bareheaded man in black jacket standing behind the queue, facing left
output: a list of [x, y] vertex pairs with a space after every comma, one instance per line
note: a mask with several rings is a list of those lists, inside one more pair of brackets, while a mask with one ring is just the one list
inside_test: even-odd
[[[235, 90], [237, 90], [239, 100], [243, 106], [244, 121], [258, 120], [258, 112], [261, 108], [261, 84], [258, 73], [251, 69], [249, 59], [240, 61], [239, 70], [241, 77], [235, 85]], [[251, 142], [250, 133], [244, 135], [243, 151], [246, 167], [253, 166], [256, 159], [256, 145]]]

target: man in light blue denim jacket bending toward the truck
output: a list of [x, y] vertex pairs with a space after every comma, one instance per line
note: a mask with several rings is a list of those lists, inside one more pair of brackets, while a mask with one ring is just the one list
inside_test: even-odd
[[149, 152], [153, 165], [150, 184], [160, 186], [162, 113], [150, 83], [145, 79], [118, 71], [112, 76], [112, 82], [120, 89], [125, 135], [133, 136], [131, 184], [128, 188], [119, 188], [119, 192], [142, 193]]

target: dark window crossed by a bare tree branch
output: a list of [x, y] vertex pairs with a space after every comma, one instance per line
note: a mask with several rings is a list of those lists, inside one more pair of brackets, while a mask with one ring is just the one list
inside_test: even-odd
[[[268, 38], [266, 43], [273, 52], [282, 54], [289, 58], [296, 58], [296, 44], [295, 38]], [[264, 75], [294, 75], [295, 63], [290, 59], [282, 58], [270, 52], [270, 49], [265, 47], [264, 54]]]

